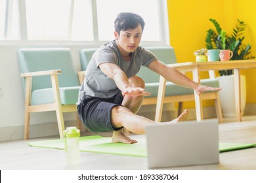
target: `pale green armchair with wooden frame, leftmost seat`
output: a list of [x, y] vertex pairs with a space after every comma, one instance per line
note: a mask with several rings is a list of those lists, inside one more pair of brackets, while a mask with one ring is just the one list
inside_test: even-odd
[[70, 49], [24, 48], [18, 50], [18, 62], [25, 93], [24, 139], [30, 135], [30, 113], [46, 111], [56, 111], [62, 139], [63, 112], [76, 112], [80, 87]]

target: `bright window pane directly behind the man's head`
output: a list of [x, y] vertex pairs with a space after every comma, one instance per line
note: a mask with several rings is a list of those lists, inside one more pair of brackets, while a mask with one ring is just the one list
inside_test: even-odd
[[[160, 18], [158, 0], [97, 0], [98, 39], [114, 39], [114, 21], [119, 12], [134, 12], [144, 18], [142, 41], [160, 41]], [[108, 7], [108, 8], [106, 8]], [[142, 8], [144, 7], [144, 8]]]

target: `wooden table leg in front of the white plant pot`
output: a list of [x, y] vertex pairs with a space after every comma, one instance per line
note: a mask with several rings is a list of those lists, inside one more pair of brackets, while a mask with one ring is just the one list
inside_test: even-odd
[[242, 122], [240, 69], [234, 69], [234, 93], [236, 100], [236, 120]]

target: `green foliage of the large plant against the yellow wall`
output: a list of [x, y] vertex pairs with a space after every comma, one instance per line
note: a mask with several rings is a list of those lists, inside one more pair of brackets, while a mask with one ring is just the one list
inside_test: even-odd
[[[221, 29], [221, 25], [214, 20], [209, 19], [213, 25], [214, 29], [209, 29], [205, 37], [206, 48], [210, 49], [221, 49], [221, 50], [231, 50], [233, 56], [231, 60], [241, 60], [241, 59], [253, 59], [254, 56], [251, 56], [251, 45], [243, 44], [245, 39], [244, 30], [246, 24], [244, 22], [237, 20], [236, 27], [233, 28], [232, 34], [227, 35], [226, 31]], [[224, 70], [219, 71], [221, 76], [223, 75], [232, 75], [233, 70]]]

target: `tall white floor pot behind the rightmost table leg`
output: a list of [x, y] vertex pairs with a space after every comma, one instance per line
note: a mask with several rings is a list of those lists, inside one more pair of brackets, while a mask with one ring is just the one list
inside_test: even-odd
[[[219, 92], [221, 100], [221, 110], [223, 117], [236, 117], [236, 102], [234, 95], [234, 75], [219, 76], [220, 87], [222, 90]], [[244, 108], [246, 104], [246, 81], [245, 75], [241, 75], [241, 109], [242, 115], [244, 115]]]

